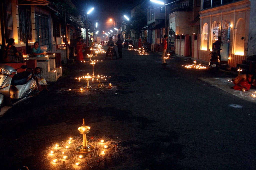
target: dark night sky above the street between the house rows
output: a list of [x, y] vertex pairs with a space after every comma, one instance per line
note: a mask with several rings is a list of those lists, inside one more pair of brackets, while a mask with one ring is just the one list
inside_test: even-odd
[[116, 23], [115, 27], [121, 25], [124, 20], [123, 15], [130, 17], [131, 9], [141, 3], [150, 3], [150, 0], [72, 0], [72, 3], [76, 5], [81, 15], [85, 14], [86, 3], [87, 9], [94, 7], [94, 10], [88, 15], [88, 18], [93, 23], [98, 22], [99, 31], [107, 31], [110, 27], [114, 27], [113, 22], [109, 21], [110, 18]]

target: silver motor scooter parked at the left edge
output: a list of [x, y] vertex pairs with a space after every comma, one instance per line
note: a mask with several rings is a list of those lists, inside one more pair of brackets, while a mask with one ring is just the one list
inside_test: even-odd
[[[26, 68], [27, 66], [23, 65], [18, 69]], [[27, 100], [37, 87], [36, 81], [32, 78], [33, 73], [17, 73], [17, 70], [0, 64], [0, 109], [2, 106], [14, 106]]]

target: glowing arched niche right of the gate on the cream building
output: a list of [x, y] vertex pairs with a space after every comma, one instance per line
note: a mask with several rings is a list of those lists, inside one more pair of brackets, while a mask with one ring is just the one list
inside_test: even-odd
[[[234, 54], [243, 56], [244, 55], [244, 41], [245, 41], [245, 21], [240, 18], [236, 25], [236, 39], [234, 46]], [[247, 40], [246, 40], [247, 41]]]

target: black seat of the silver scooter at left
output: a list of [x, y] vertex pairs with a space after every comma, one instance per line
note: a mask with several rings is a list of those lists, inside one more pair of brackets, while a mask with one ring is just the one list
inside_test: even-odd
[[32, 74], [28, 71], [17, 73], [13, 76], [11, 85], [17, 86], [17, 85], [26, 84], [31, 77], [32, 77]]

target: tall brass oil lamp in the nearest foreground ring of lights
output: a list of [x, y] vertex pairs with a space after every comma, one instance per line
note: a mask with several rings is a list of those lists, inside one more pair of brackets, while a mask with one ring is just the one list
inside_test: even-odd
[[84, 119], [83, 119], [83, 125], [78, 128], [79, 133], [83, 135], [83, 145], [78, 146], [76, 148], [77, 152], [87, 153], [87, 152], [91, 152], [92, 150], [94, 150], [95, 147], [93, 145], [87, 144], [87, 139], [86, 139], [86, 134], [89, 133], [90, 129], [91, 128], [89, 126], [85, 126]]

